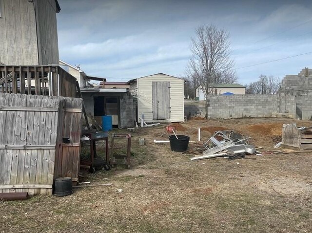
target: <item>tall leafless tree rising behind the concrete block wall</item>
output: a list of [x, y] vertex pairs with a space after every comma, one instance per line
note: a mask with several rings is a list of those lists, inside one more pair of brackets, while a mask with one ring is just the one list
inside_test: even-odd
[[[221, 83], [237, 81], [234, 61], [231, 59], [230, 36], [225, 30], [214, 25], [196, 28], [191, 43], [192, 57], [187, 74], [195, 86], [202, 88], [206, 95], [214, 93], [214, 87]], [[208, 104], [206, 118], [208, 117]]]

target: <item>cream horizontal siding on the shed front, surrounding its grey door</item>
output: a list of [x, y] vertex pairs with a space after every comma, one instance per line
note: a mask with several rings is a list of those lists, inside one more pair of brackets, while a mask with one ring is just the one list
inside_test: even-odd
[[[170, 119], [162, 121], [183, 122], [184, 80], [164, 74], [156, 74], [137, 79], [138, 117], [141, 117], [141, 113], [144, 113], [144, 121], [153, 122], [152, 82], [170, 82]], [[133, 87], [135, 86], [130, 86], [130, 88]], [[161, 122], [161, 120], [157, 121]]]

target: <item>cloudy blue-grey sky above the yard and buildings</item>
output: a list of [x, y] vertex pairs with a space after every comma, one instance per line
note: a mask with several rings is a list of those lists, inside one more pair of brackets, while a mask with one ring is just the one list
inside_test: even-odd
[[[283, 78], [305, 66], [312, 68], [311, 0], [59, 0], [59, 4], [60, 59], [108, 81], [160, 72], [183, 76], [195, 28], [208, 24], [230, 33], [241, 84], [260, 74]], [[309, 54], [292, 57], [304, 53]], [[292, 58], [260, 64], [287, 57]]]

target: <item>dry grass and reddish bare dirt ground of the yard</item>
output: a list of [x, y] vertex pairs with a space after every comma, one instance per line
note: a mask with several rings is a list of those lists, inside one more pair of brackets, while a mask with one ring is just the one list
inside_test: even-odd
[[[198, 127], [202, 139], [218, 129], [235, 129], [266, 151], [280, 141], [282, 125], [291, 122], [296, 121], [195, 118], [177, 130], [196, 140]], [[138, 129], [131, 169], [117, 167], [86, 178], [112, 186], [77, 189], [66, 197], [0, 202], [0, 232], [312, 232], [311, 153], [190, 161], [193, 155], [153, 143], [167, 140], [163, 133], [165, 125]], [[138, 146], [138, 137], [145, 138], [144, 146]]]

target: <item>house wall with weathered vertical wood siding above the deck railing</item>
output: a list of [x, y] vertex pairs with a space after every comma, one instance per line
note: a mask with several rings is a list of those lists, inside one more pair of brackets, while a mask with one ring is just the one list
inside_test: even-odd
[[0, 1], [0, 62], [59, 64], [57, 0]]

